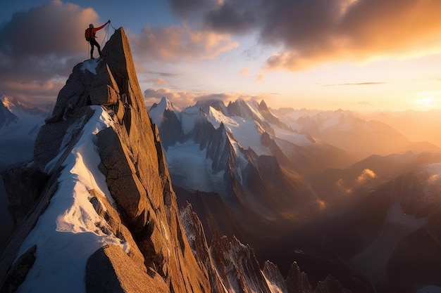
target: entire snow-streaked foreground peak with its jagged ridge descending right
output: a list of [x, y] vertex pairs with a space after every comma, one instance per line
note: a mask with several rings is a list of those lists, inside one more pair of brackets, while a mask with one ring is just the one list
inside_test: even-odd
[[313, 291], [237, 238], [207, 245], [191, 206], [178, 210], [123, 28], [103, 58], [73, 68], [34, 158], [2, 172], [15, 229], [1, 256], [1, 292]]

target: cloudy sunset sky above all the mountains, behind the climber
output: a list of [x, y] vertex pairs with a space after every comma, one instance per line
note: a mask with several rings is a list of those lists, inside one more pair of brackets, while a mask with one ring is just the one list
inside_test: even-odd
[[84, 30], [110, 19], [128, 34], [147, 105], [166, 96], [179, 106], [243, 97], [272, 108], [441, 108], [440, 0], [0, 3], [0, 94], [34, 104], [56, 99], [89, 58]]

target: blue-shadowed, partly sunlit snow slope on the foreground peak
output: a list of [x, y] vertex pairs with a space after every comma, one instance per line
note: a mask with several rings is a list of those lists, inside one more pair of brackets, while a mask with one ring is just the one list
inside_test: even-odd
[[87, 259], [106, 244], [129, 247], [113, 234], [106, 235], [97, 226], [106, 226], [89, 202], [94, 189], [111, 199], [106, 178], [98, 166], [95, 134], [111, 125], [100, 106], [92, 106], [93, 117], [87, 122], [80, 140], [63, 162], [58, 189], [49, 207], [27, 235], [18, 256], [37, 245], [36, 261], [18, 292], [85, 292]]

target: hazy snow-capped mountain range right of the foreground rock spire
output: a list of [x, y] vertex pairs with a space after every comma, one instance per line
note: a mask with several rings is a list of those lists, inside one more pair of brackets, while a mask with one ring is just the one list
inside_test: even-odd
[[[385, 187], [402, 182], [402, 194], [426, 202], [426, 188], [416, 186], [441, 176], [436, 145], [411, 142], [350, 111], [271, 110], [254, 100], [209, 100], [180, 110], [162, 98], [149, 115], [159, 127], [178, 202], [192, 203], [209, 239], [216, 230], [238, 235], [261, 261], [275, 259], [282, 273], [294, 258], [312, 284], [331, 273], [353, 292], [367, 292], [369, 283], [380, 292], [441, 286], [430, 273], [437, 271], [433, 266], [390, 271], [405, 258], [391, 254], [403, 241], [415, 251], [426, 249], [425, 240], [413, 235], [428, 222]], [[430, 190], [440, 187], [437, 182]], [[435, 211], [426, 215], [430, 223]], [[399, 221], [400, 215], [407, 220]], [[391, 225], [406, 232], [385, 233]], [[429, 242], [436, 243], [441, 234], [428, 229]], [[389, 245], [389, 252], [375, 243]], [[372, 266], [383, 271], [373, 273]], [[404, 275], [409, 282], [398, 282]]]

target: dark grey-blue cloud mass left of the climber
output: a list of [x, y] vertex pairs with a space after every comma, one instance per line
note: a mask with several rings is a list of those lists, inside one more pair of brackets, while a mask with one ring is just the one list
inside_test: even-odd
[[0, 26], [0, 92], [28, 103], [54, 100], [87, 58], [84, 30], [98, 19], [92, 8], [61, 1], [13, 14]]

